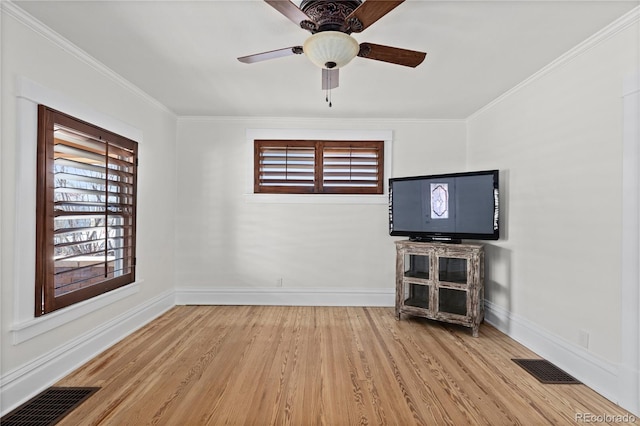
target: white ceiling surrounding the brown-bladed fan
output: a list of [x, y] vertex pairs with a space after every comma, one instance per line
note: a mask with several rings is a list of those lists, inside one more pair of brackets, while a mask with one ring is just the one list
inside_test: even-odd
[[181, 116], [466, 118], [640, 4], [407, 0], [360, 34], [427, 52], [413, 69], [355, 58], [329, 108], [303, 55], [238, 56], [309, 35], [261, 0], [14, 1]]

